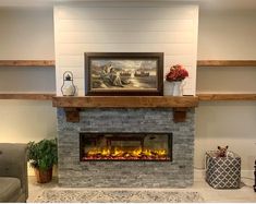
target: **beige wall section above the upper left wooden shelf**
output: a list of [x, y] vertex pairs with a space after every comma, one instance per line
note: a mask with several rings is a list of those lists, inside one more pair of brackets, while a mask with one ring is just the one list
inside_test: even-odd
[[52, 9], [0, 8], [0, 59], [54, 59]]

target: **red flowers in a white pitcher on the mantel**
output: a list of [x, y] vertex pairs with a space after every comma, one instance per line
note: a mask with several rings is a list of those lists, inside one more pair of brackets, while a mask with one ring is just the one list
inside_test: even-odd
[[170, 83], [169, 93], [173, 96], [182, 96], [181, 84], [185, 77], [188, 76], [188, 72], [181, 64], [175, 64], [170, 68], [170, 71], [166, 75], [167, 83]]

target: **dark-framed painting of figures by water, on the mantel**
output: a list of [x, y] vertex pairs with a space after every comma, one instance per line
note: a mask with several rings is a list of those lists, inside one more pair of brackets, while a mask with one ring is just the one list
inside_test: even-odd
[[86, 52], [85, 95], [159, 96], [162, 52]]

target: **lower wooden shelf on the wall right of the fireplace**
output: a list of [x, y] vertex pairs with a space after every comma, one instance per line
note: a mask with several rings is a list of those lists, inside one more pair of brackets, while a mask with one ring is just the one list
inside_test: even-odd
[[200, 101], [256, 100], [256, 94], [197, 94]]

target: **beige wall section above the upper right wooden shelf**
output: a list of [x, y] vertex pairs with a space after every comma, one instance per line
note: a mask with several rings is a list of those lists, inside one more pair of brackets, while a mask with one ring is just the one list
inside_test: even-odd
[[200, 11], [198, 59], [255, 59], [255, 11]]

